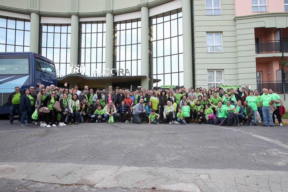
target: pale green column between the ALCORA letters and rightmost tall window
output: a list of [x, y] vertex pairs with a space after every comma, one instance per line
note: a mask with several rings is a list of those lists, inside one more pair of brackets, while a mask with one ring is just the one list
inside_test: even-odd
[[[145, 75], [146, 79], [141, 79], [141, 87], [149, 89], [149, 9], [141, 7], [141, 75]], [[150, 79], [153, 81], [153, 79]]]

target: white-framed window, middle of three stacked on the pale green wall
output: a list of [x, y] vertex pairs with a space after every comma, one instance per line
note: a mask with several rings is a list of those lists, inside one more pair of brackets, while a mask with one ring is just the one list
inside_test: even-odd
[[223, 52], [222, 33], [207, 33], [207, 52]]

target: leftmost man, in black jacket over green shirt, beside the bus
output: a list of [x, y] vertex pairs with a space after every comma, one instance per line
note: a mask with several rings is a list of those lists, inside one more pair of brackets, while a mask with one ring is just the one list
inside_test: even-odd
[[7, 104], [10, 106], [10, 119], [9, 124], [13, 123], [14, 114], [16, 113], [16, 109], [18, 111], [18, 121], [21, 123], [22, 111], [20, 109], [20, 87], [15, 87], [15, 91], [10, 93], [8, 97]]

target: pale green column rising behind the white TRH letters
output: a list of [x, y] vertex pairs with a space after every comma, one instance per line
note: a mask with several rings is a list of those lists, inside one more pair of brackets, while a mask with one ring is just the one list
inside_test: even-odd
[[71, 48], [70, 48], [70, 66], [78, 63], [78, 33], [79, 18], [77, 15], [71, 16]]

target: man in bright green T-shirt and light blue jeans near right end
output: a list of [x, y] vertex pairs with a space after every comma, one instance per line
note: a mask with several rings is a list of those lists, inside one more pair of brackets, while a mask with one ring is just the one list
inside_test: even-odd
[[268, 94], [268, 89], [264, 89], [264, 94], [260, 97], [260, 105], [262, 106], [262, 112], [263, 112], [263, 125], [262, 126], [268, 126], [268, 120], [269, 120], [269, 126], [273, 126], [273, 119], [272, 119], [272, 113], [270, 113], [270, 104], [271, 100], [273, 99], [273, 96]]

